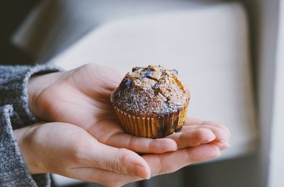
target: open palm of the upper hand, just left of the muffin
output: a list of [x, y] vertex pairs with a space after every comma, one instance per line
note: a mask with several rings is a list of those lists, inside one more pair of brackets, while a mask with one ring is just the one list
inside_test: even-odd
[[[109, 97], [116, 86], [116, 79], [112, 78], [117, 75], [107, 77], [100, 73], [102, 68], [98, 68], [75, 69], [72, 74], [63, 74], [55, 84], [48, 86], [38, 98], [40, 103], [48, 106], [47, 111], [46, 108], [42, 111], [45, 119], [75, 123], [85, 130], [97, 128], [106, 120], [114, 121]], [[113, 73], [110, 72], [110, 75]], [[109, 125], [105, 127], [109, 128]], [[118, 128], [119, 125], [116, 125], [114, 129]], [[109, 131], [113, 132], [111, 128]], [[122, 131], [121, 128], [119, 131]]]

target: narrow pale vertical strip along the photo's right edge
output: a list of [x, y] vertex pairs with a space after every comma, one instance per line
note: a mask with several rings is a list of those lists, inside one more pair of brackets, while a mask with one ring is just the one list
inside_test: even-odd
[[284, 1], [279, 6], [279, 27], [275, 62], [275, 89], [273, 102], [273, 122], [271, 130], [271, 152], [269, 154], [269, 187], [284, 186]]

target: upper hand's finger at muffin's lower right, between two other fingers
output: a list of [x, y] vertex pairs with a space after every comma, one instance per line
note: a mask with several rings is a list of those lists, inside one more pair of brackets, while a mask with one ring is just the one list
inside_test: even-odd
[[190, 129], [168, 136], [177, 142], [178, 149], [195, 147], [215, 140], [216, 136], [207, 128]]

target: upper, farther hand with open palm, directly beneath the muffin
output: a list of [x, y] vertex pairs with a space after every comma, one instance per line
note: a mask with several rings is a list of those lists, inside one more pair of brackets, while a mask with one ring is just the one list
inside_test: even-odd
[[151, 140], [129, 135], [119, 125], [110, 103], [111, 91], [121, 79], [114, 69], [95, 64], [33, 77], [28, 87], [29, 106], [42, 120], [78, 125], [99, 142], [134, 152], [163, 153], [195, 146], [188, 141], [192, 133], [204, 143], [216, 139], [214, 143], [219, 147], [229, 140], [229, 132], [223, 125], [200, 121], [195, 124], [191, 120], [185, 123], [182, 132], [170, 138]]

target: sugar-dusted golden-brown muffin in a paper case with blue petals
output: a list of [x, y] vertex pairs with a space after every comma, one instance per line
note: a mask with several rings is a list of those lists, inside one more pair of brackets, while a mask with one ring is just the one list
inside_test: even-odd
[[165, 137], [185, 123], [190, 94], [178, 71], [149, 65], [134, 67], [111, 94], [111, 103], [126, 132], [138, 137]]

